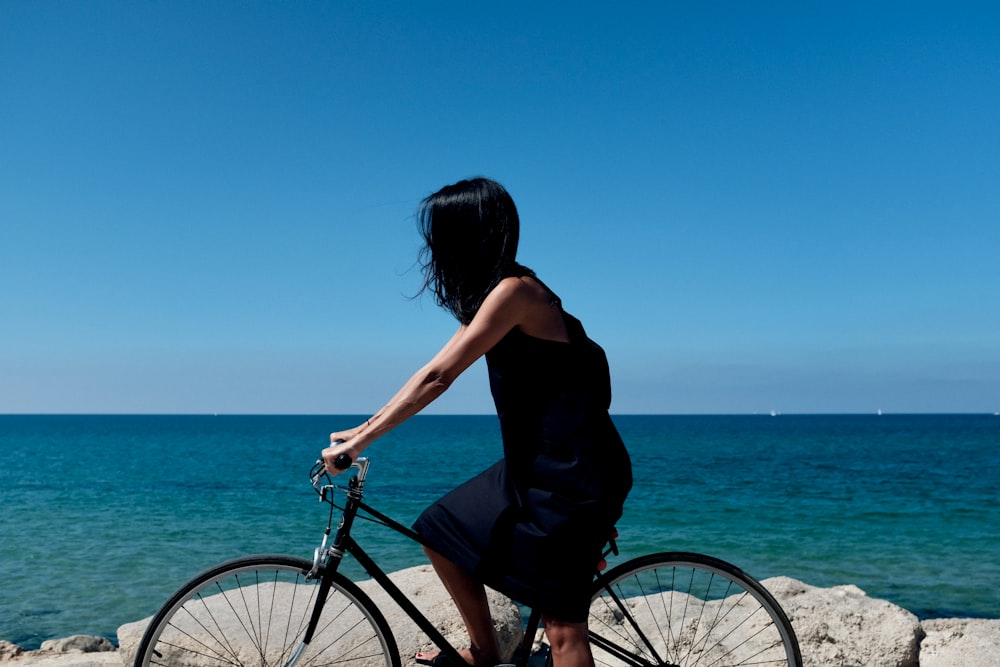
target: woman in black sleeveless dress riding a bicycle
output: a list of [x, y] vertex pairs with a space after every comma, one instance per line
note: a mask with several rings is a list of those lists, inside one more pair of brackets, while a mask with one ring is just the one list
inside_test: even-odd
[[446, 186], [423, 201], [419, 222], [424, 288], [458, 331], [374, 416], [330, 434], [323, 459], [336, 474], [338, 456], [357, 458], [485, 355], [504, 458], [427, 508], [414, 529], [465, 621], [470, 664], [501, 657], [485, 584], [542, 612], [557, 667], [592, 665], [590, 582], [632, 485], [608, 415], [607, 359], [515, 261], [517, 210], [500, 184]]

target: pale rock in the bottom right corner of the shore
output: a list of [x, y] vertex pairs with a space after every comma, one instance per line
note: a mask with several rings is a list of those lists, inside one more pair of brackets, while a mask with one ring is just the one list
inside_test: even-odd
[[997, 667], [1000, 619], [942, 618], [924, 621], [920, 667]]

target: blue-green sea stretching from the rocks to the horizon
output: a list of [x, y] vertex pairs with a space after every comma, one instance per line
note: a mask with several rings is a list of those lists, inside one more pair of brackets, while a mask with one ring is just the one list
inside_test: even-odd
[[[309, 469], [361, 419], [0, 415], [0, 640], [115, 641], [214, 563], [311, 558], [330, 513]], [[1000, 416], [614, 419], [635, 484], [612, 565], [696, 551], [920, 618], [1000, 618]], [[497, 419], [418, 416], [366, 454], [366, 498], [409, 524], [500, 457]], [[354, 534], [388, 571], [425, 562], [384, 526]]]

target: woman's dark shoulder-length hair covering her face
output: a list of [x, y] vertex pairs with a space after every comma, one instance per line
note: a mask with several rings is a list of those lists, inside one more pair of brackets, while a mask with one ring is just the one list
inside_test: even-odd
[[473, 178], [446, 185], [421, 202], [417, 214], [424, 247], [423, 290], [468, 324], [501, 280], [531, 274], [518, 264], [520, 221], [502, 185]]

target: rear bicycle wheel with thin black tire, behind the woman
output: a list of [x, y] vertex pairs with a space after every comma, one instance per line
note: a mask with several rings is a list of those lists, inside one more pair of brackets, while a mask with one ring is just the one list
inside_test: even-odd
[[767, 589], [700, 554], [651, 554], [602, 575], [588, 625], [598, 665], [802, 665], [792, 625]]

